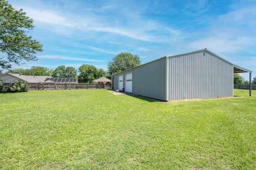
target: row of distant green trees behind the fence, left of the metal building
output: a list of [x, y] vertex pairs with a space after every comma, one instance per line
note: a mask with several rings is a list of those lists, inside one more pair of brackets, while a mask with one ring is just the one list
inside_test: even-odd
[[[15, 68], [9, 70], [9, 73], [19, 72], [22, 75], [30, 76], [52, 76], [56, 78], [78, 78], [80, 83], [91, 83], [93, 80], [105, 76], [111, 79], [112, 73], [117, 73], [123, 70], [127, 70], [134, 66], [138, 66], [141, 63], [138, 55], [132, 55], [131, 53], [120, 53], [108, 63], [108, 71], [104, 71], [102, 68], [98, 69], [93, 65], [82, 64], [76, 70], [72, 66], [58, 66], [56, 69], [48, 69], [42, 66], [32, 66], [29, 69]], [[79, 72], [79, 75], [78, 75]]]

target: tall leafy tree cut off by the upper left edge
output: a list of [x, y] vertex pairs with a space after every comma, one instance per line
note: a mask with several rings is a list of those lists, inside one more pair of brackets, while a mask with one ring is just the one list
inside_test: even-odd
[[11, 63], [35, 61], [42, 45], [26, 35], [33, 29], [33, 20], [22, 9], [17, 11], [5, 0], [0, 0], [0, 67], [10, 70]]

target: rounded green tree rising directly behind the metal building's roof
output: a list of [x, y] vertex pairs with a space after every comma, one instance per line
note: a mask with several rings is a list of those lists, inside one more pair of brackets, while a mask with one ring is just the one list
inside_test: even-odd
[[132, 55], [131, 53], [120, 53], [114, 57], [112, 61], [108, 62], [108, 71], [110, 74], [117, 73], [140, 64], [141, 61], [138, 55]]

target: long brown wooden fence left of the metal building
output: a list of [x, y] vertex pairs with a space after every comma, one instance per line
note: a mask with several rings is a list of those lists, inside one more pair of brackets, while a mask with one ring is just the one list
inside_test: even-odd
[[[3, 83], [4, 91], [11, 86]], [[67, 89], [111, 89], [111, 84], [86, 84], [86, 83], [27, 83], [28, 90], [67, 90]]]

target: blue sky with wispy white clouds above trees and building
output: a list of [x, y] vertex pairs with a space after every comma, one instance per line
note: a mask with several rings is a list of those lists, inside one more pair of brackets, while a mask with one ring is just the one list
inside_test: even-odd
[[[122, 52], [147, 63], [207, 48], [256, 76], [255, 0], [8, 0], [34, 20], [38, 61], [13, 68], [107, 64]], [[248, 73], [241, 74], [249, 79]]]

